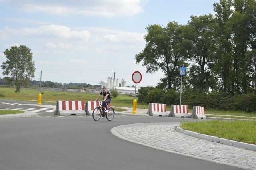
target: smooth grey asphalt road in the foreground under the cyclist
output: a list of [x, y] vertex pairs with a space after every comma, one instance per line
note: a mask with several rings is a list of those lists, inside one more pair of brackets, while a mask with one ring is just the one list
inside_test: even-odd
[[97, 122], [91, 116], [0, 119], [0, 170], [240, 169], [142, 146], [110, 132], [119, 125], [181, 120], [140, 116]]

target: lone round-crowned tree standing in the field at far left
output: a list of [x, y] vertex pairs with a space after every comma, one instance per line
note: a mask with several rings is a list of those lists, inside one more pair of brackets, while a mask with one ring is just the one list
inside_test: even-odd
[[4, 55], [6, 55], [7, 61], [1, 65], [2, 74], [10, 75], [8, 81], [14, 81], [16, 92], [20, 92], [20, 85], [23, 83], [28, 85], [30, 79], [35, 77], [36, 68], [35, 62], [32, 61], [33, 53], [30, 52], [30, 48], [20, 45], [6, 49]]

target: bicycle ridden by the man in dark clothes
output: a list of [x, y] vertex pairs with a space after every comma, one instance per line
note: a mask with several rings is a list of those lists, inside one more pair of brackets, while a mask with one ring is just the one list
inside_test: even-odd
[[105, 113], [104, 109], [102, 108], [101, 101], [99, 101], [99, 102], [100, 102], [100, 104], [97, 107], [95, 107], [92, 112], [92, 118], [94, 119], [94, 121], [98, 121], [98, 120], [100, 120], [100, 117], [104, 114], [104, 116], [108, 119], [108, 121], [111, 121], [114, 118], [115, 109], [110, 107], [110, 108], [108, 108], [108, 112]]

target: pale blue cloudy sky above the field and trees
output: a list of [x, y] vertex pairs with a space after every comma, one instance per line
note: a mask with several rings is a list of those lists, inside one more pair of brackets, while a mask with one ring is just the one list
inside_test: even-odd
[[[11, 46], [33, 53], [32, 80], [99, 85], [108, 77], [137, 87], [156, 86], [162, 71], [146, 73], [135, 56], [146, 42], [146, 27], [187, 24], [190, 16], [215, 14], [218, 0], [0, 0], [0, 63]], [[42, 71], [42, 77], [41, 77]], [[0, 68], [0, 77], [2, 69]]]

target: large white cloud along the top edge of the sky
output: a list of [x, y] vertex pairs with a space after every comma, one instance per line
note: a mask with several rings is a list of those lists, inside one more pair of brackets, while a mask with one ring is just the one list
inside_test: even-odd
[[148, 0], [2, 0], [25, 12], [44, 12], [56, 15], [82, 14], [84, 16], [134, 16], [142, 13]]

